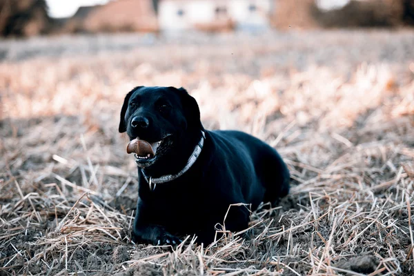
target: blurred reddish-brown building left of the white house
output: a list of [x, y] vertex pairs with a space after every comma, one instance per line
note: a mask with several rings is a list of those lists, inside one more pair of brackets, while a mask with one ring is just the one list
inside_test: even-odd
[[152, 32], [158, 30], [152, 0], [112, 0], [77, 10], [66, 23], [69, 32]]

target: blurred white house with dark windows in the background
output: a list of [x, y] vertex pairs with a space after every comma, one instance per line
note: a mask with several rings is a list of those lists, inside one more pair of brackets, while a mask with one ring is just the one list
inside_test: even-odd
[[159, 0], [160, 30], [268, 28], [273, 0]]

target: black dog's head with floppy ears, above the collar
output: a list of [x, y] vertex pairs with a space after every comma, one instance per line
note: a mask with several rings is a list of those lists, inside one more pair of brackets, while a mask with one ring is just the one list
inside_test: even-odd
[[119, 132], [149, 148], [137, 155], [141, 168], [177, 151], [188, 133], [202, 129], [197, 101], [184, 88], [139, 86], [124, 99]]

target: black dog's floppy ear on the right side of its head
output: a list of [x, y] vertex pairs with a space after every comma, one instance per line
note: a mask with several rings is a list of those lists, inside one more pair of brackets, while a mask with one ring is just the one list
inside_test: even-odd
[[200, 110], [197, 101], [188, 94], [184, 88], [175, 88], [181, 99], [181, 104], [184, 109], [184, 116], [186, 117], [188, 128], [197, 128], [204, 130], [200, 119]]

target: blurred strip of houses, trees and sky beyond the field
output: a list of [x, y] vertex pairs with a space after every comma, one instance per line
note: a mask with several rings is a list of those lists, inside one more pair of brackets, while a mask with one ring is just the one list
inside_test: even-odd
[[412, 0], [1, 0], [0, 33], [163, 32], [414, 23]]

